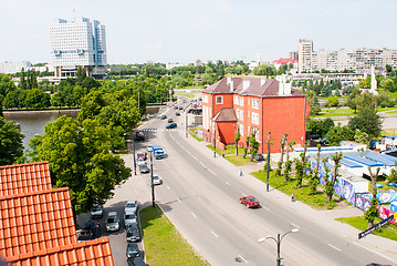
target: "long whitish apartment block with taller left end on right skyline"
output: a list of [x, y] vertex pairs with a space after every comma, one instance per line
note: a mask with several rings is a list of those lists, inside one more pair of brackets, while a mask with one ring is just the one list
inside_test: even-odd
[[314, 71], [354, 71], [355, 73], [370, 73], [374, 65], [378, 73], [386, 70], [386, 64], [397, 69], [397, 50], [389, 49], [355, 49], [338, 51], [313, 50], [313, 41], [300, 40], [299, 72]]

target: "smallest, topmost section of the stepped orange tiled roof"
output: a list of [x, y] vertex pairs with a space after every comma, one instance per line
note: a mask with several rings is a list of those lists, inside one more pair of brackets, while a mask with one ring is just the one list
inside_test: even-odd
[[49, 162], [0, 166], [0, 196], [51, 187]]

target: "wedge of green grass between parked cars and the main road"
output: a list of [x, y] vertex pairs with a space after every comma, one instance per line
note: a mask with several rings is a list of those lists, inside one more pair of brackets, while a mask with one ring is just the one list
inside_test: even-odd
[[156, 205], [140, 211], [147, 264], [150, 266], [209, 265], [186, 242]]

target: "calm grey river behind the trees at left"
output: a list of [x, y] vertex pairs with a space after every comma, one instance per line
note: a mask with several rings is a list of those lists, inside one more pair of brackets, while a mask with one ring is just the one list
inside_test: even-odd
[[3, 112], [6, 120], [13, 120], [21, 126], [21, 133], [24, 135], [23, 147], [30, 150], [29, 142], [35, 134], [43, 135], [48, 123], [54, 122], [62, 115], [73, 119], [77, 117], [79, 110], [51, 110], [51, 111], [19, 111]]

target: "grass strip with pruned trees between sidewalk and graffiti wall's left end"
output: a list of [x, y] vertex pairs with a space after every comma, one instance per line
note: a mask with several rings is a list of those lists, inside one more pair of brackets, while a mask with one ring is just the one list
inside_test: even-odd
[[[258, 180], [262, 181], [263, 183], [267, 182], [267, 173], [263, 170], [258, 172], [250, 173]], [[345, 204], [343, 200], [341, 200], [337, 195], [334, 194], [333, 201], [331, 203], [326, 202], [325, 193], [318, 191], [315, 195], [309, 195], [310, 186], [305, 185], [304, 182], [301, 188], [296, 188], [297, 181], [291, 180], [290, 182], [285, 182], [284, 176], [276, 176], [274, 171], [270, 172], [269, 175], [269, 185], [274, 190], [278, 190], [285, 195], [291, 195], [294, 193], [295, 198], [304, 204], [317, 208], [317, 209], [326, 209], [326, 208], [334, 208], [335, 205]]]

